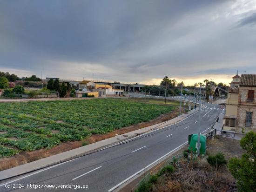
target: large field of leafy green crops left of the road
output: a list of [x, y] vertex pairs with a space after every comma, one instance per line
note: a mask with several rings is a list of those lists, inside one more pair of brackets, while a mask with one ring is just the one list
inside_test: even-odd
[[174, 109], [124, 99], [0, 103], [0, 158], [104, 134]]

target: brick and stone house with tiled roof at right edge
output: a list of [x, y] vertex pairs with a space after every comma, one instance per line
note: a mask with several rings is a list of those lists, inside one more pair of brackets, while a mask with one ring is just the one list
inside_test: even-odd
[[236, 131], [256, 131], [256, 75], [242, 74], [239, 83]]

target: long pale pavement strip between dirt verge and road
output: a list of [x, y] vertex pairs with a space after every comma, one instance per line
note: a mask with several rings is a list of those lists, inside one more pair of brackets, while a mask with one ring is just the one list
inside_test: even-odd
[[[198, 111], [198, 109], [196, 109], [196, 111]], [[195, 113], [195, 110], [192, 110], [191, 112], [187, 113], [187, 114], [182, 114], [174, 119], [170, 119], [168, 121], [153, 125], [153, 126], [148, 126], [145, 128], [141, 128], [132, 132], [128, 132], [125, 134], [121, 134], [121, 135], [116, 135], [115, 137], [109, 138], [109, 139], [105, 139], [105, 140], [101, 140], [99, 142], [95, 142], [92, 144], [89, 144], [87, 146], [82, 146], [67, 152], [62, 152], [44, 159], [39, 159], [27, 164], [23, 164], [20, 166], [16, 166], [4, 171], [0, 172], [0, 181], [4, 180], [4, 179], [9, 179], [9, 178], [13, 178], [15, 176], [19, 176], [21, 174], [25, 174], [27, 172], [32, 172], [41, 168], [45, 168], [47, 166], [52, 166], [55, 165], [57, 163], [61, 163], [63, 161], [67, 161], [67, 160], [71, 160], [74, 159], [76, 157], [80, 157], [84, 154], [87, 154], [89, 152], [93, 152], [96, 150], [100, 150], [104, 147], [107, 146], [111, 146], [114, 144], [117, 144], [119, 142], [124, 142], [128, 139], [132, 139], [137, 135], [149, 132], [149, 131], [153, 131], [153, 130], [157, 130], [157, 129], [161, 129], [165, 126], [169, 126], [172, 124], [175, 124], [187, 117], [189, 117], [189, 115]]]

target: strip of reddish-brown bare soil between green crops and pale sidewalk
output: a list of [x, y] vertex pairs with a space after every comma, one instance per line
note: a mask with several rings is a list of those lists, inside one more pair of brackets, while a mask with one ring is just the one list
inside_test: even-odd
[[83, 142], [88, 142], [88, 144], [91, 144], [97, 141], [114, 137], [116, 134], [124, 134], [127, 132], [132, 132], [132, 131], [141, 129], [143, 127], [152, 126], [152, 125], [167, 121], [169, 119], [173, 119], [178, 115], [179, 115], [179, 110], [176, 109], [171, 113], [162, 114], [156, 119], [153, 119], [151, 121], [138, 123], [128, 127], [122, 127], [120, 129], [116, 129], [115, 131], [109, 132], [107, 134], [94, 134], [88, 139], [85, 139], [82, 141], [63, 142], [60, 145], [55, 146], [48, 150], [39, 149], [32, 152], [20, 152], [19, 154], [16, 154], [12, 157], [0, 159], [0, 171], [81, 147]]

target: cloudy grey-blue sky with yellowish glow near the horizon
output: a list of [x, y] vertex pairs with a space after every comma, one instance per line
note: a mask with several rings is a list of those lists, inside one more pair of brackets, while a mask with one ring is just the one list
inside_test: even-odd
[[0, 0], [0, 71], [20, 77], [228, 84], [236, 70], [256, 74], [256, 0]]

